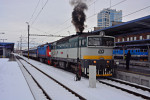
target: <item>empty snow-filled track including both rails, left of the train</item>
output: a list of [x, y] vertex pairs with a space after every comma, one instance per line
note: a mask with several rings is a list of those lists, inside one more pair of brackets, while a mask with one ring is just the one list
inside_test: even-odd
[[[26, 62], [20, 57], [19, 59], [21, 59], [20, 61], [22, 62], [22, 64], [26, 67], [26, 69], [29, 71], [32, 77], [34, 77], [34, 79], [38, 83], [38, 86], [40, 86], [40, 88], [43, 88], [43, 91], [45, 91], [45, 95], [49, 97], [48, 99], [50, 100], [51, 99], [86, 100], [85, 98], [83, 98], [82, 96], [80, 96], [79, 94], [77, 94], [76, 92], [68, 88], [67, 86], [63, 85], [62, 83], [58, 82], [56, 79], [52, 78], [45, 72], [38, 69], [36, 66]], [[63, 91], [63, 94], [62, 94], [62, 91]]]

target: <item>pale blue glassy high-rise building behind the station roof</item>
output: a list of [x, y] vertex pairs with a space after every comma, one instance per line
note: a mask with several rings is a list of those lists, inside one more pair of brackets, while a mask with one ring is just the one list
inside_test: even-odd
[[122, 22], [122, 10], [103, 9], [97, 15], [97, 26], [106, 28], [112, 26], [112, 22]]

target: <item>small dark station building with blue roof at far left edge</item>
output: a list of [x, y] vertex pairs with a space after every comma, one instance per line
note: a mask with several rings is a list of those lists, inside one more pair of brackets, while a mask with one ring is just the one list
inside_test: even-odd
[[0, 42], [0, 58], [10, 57], [10, 54], [14, 51], [14, 43]]

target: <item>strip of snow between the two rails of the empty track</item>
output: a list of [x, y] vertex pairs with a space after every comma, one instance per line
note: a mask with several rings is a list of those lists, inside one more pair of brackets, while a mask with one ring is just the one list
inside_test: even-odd
[[79, 100], [79, 98], [77, 98], [74, 94], [63, 88], [58, 83], [54, 82], [49, 77], [45, 76], [43, 73], [39, 72], [30, 64], [23, 60], [21, 60], [21, 62], [52, 100], [67, 100], [68, 98], [70, 100]]

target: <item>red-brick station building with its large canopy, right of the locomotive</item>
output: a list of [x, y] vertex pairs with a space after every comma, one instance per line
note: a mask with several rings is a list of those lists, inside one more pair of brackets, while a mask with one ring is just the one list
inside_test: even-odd
[[129, 48], [147, 50], [147, 61], [150, 61], [150, 15], [96, 30], [95, 32], [100, 31], [104, 31], [106, 35], [115, 37], [115, 48], [122, 48], [123, 50]]

